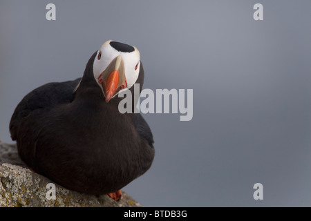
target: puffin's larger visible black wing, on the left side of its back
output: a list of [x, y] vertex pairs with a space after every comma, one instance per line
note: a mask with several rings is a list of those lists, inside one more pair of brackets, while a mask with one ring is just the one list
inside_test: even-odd
[[69, 103], [73, 100], [73, 90], [81, 78], [74, 81], [53, 82], [44, 84], [23, 97], [15, 108], [10, 121], [12, 140], [16, 140], [17, 128], [21, 119], [39, 108], [52, 108], [57, 104]]

